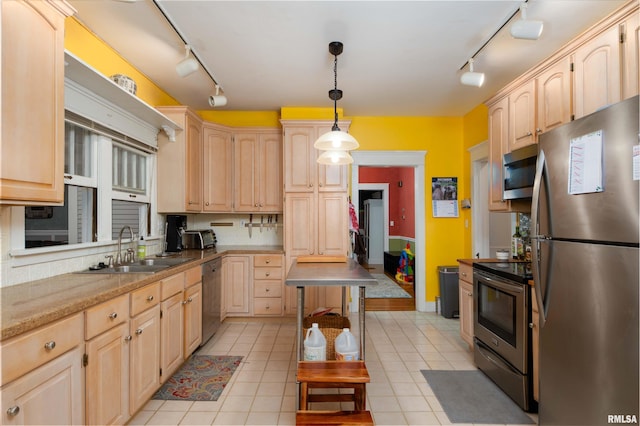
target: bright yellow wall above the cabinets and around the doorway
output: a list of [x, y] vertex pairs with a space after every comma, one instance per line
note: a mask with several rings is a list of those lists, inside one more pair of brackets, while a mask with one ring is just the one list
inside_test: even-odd
[[[127, 63], [113, 49], [74, 18], [67, 19], [65, 47], [106, 76], [126, 74], [138, 85], [138, 97], [150, 105], [176, 105], [177, 101]], [[281, 111], [198, 111], [205, 120], [229, 126], [279, 127], [285, 119], [333, 118], [332, 108], [290, 108]], [[342, 110], [339, 110], [342, 117]], [[420, 150], [425, 158], [426, 299], [439, 293], [437, 267], [455, 265], [471, 252], [470, 211], [458, 218], [434, 218], [431, 178], [458, 177], [459, 198], [470, 197], [470, 159], [467, 149], [487, 139], [487, 110], [478, 106], [464, 117], [346, 117], [349, 132], [362, 150]], [[468, 227], [465, 227], [468, 220]]]

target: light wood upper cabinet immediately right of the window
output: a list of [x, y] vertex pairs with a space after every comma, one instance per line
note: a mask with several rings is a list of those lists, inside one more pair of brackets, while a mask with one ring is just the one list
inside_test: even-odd
[[175, 141], [158, 135], [158, 211], [200, 212], [203, 199], [202, 119], [184, 106], [159, 107], [183, 131]]

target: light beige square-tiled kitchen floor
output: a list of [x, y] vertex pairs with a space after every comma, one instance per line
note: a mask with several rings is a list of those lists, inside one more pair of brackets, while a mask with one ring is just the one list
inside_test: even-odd
[[[352, 315], [354, 334], [357, 314]], [[295, 320], [228, 319], [198, 354], [244, 359], [215, 402], [149, 401], [132, 425], [294, 425]], [[475, 369], [459, 321], [415, 311], [366, 313], [367, 409], [377, 425], [451, 424], [420, 370]], [[313, 403], [311, 409], [352, 409]], [[532, 415], [537, 422], [535, 415]]]

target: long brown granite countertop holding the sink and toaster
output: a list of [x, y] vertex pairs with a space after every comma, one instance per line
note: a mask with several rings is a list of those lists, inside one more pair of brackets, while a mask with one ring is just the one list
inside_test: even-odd
[[[33, 330], [52, 321], [128, 293], [229, 254], [283, 254], [282, 246], [218, 246], [209, 250], [184, 250], [172, 258], [191, 260], [154, 274], [56, 275], [0, 288], [0, 340]], [[153, 256], [150, 256], [153, 257]]]

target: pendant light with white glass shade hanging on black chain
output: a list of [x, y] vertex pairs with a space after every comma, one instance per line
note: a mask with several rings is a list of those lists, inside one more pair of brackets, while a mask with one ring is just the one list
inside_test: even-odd
[[[320, 155], [318, 163], [321, 164], [350, 164], [353, 162], [353, 158], [346, 151], [357, 149], [360, 144], [358, 141], [348, 134], [343, 132], [338, 127], [338, 100], [342, 99], [342, 90], [338, 89], [338, 55], [342, 53], [343, 45], [339, 41], [332, 41], [329, 43], [329, 53], [334, 57], [333, 59], [333, 75], [334, 75], [334, 88], [329, 90], [329, 99], [333, 100], [333, 115], [334, 122], [331, 127], [331, 131], [321, 135], [313, 144], [314, 148], [322, 151], [332, 151], [332, 155]], [[343, 151], [343, 154], [335, 154], [335, 152]], [[350, 161], [349, 161], [350, 160]]]

